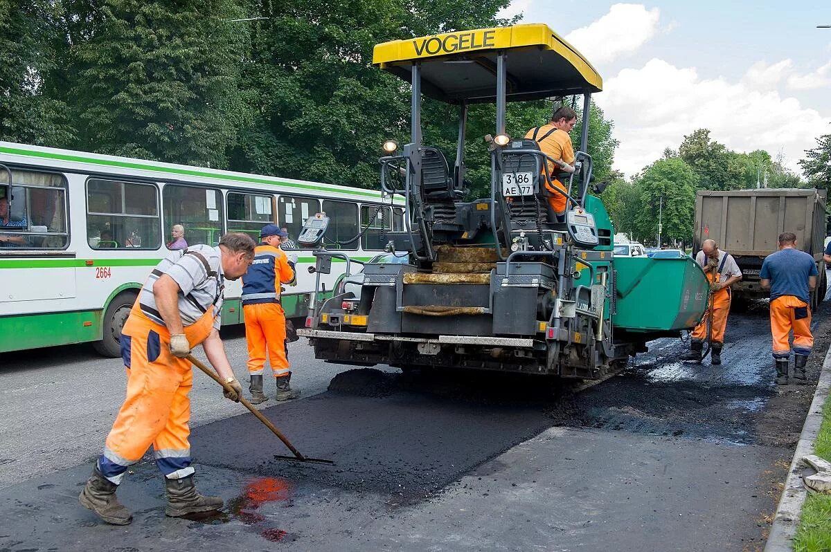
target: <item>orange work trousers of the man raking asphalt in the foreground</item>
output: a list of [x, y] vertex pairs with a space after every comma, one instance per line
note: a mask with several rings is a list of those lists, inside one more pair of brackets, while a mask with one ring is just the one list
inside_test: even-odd
[[[209, 309], [184, 328], [191, 347], [202, 343], [214, 325]], [[187, 359], [170, 353], [170, 332], [138, 308], [121, 331], [121, 356], [127, 370], [127, 396], [98, 459], [101, 473], [119, 484], [127, 467], [153, 445], [156, 465], [169, 479], [194, 472], [190, 467], [190, 399], [193, 371]]]

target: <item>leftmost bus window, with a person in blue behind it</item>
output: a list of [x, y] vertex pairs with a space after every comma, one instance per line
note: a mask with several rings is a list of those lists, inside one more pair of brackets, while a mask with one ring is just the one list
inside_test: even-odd
[[0, 247], [64, 249], [66, 180], [57, 173], [0, 171]]

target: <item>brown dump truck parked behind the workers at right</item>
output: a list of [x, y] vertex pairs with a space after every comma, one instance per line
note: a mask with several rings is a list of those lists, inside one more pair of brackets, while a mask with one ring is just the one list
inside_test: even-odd
[[799, 249], [814, 257], [819, 271], [817, 290], [811, 292], [811, 309], [819, 308], [826, 289], [823, 250], [826, 227], [825, 190], [815, 188], [757, 188], [750, 190], [699, 190], [693, 251], [715, 240], [735, 258], [742, 280], [733, 285], [733, 304], [769, 296], [760, 286], [765, 256], [779, 249], [779, 234], [794, 232]]

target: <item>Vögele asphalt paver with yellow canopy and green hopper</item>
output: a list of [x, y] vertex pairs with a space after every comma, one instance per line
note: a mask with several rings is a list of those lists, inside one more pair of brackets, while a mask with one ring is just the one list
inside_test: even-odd
[[[374, 63], [409, 83], [410, 141], [383, 144], [381, 189], [405, 200], [404, 227], [386, 232], [401, 262], [366, 263], [360, 293], [345, 286], [310, 303], [306, 328], [317, 359], [430, 369], [484, 369], [598, 379], [657, 337], [701, 320], [709, 286], [689, 257], [616, 258], [614, 228], [596, 197], [583, 125], [574, 173], [551, 174], [533, 139], [506, 134], [508, 101], [591, 95], [602, 79], [568, 42], [542, 24], [451, 32], [376, 46]], [[456, 105], [455, 160], [425, 144], [421, 96]], [[468, 108], [495, 105], [490, 195], [467, 199]], [[544, 122], [544, 121], [541, 121]], [[553, 178], [564, 184], [555, 192]], [[589, 193], [593, 192], [593, 193]], [[567, 199], [562, 218], [548, 197]], [[298, 237], [325, 234], [318, 213]], [[357, 260], [319, 247], [315, 270]], [[342, 266], [342, 265], [341, 265]]]

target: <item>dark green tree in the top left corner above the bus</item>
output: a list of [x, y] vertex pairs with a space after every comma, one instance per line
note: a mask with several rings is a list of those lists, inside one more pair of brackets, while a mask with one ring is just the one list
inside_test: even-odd
[[61, 146], [71, 142], [66, 105], [45, 80], [56, 67], [51, 2], [0, 0], [0, 139]]

